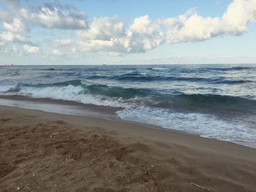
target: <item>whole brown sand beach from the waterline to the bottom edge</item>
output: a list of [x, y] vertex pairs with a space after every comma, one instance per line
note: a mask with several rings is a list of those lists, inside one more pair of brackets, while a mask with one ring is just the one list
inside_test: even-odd
[[256, 150], [0, 106], [0, 191], [256, 191]]

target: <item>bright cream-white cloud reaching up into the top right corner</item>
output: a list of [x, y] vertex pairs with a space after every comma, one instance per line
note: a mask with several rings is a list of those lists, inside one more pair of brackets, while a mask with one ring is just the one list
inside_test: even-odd
[[203, 18], [196, 12], [167, 18], [163, 21], [168, 28], [166, 42], [197, 42], [221, 35], [239, 35], [245, 33], [249, 22], [256, 19], [255, 0], [235, 0], [222, 18]]

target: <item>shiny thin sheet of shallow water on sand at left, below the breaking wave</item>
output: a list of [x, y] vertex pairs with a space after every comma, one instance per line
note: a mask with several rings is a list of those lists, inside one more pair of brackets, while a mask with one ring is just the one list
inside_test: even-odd
[[17, 107], [19, 109], [53, 112], [63, 115], [99, 117], [111, 120], [119, 119], [116, 112], [123, 109], [121, 107], [97, 106], [94, 104], [83, 104], [75, 101], [31, 98], [28, 96], [0, 96], [0, 105]]

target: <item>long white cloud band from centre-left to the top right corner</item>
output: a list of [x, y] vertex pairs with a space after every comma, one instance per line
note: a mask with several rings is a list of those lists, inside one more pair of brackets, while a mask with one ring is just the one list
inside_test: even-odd
[[[75, 50], [108, 52], [110, 55], [144, 53], [168, 43], [199, 42], [222, 35], [246, 32], [256, 20], [256, 0], [234, 0], [221, 18], [203, 17], [190, 9], [178, 18], [150, 20], [148, 15], [134, 18], [125, 27], [117, 18], [94, 18], [88, 30], [79, 31]], [[165, 29], [163, 29], [165, 28]]]

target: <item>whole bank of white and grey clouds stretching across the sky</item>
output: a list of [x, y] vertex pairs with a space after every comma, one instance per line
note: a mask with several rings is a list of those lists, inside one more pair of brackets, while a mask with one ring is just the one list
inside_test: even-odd
[[0, 9], [1, 47], [18, 43], [23, 44], [26, 53], [45, 53], [40, 45], [33, 45], [33, 37], [28, 38], [34, 26], [46, 31], [73, 31], [75, 35], [72, 39], [53, 39], [49, 42], [49, 46], [53, 46], [50, 53], [56, 56], [65, 53], [109, 53], [113, 56], [145, 53], [162, 44], [176, 45], [225, 35], [238, 36], [248, 31], [249, 23], [256, 21], [256, 0], [234, 0], [222, 17], [203, 17], [191, 9], [176, 18], [151, 20], [149, 15], [142, 15], [129, 22], [107, 17], [89, 21], [84, 12], [63, 9], [65, 7], [45, 6], [29, 12], [20, 7], [18, 0], [5, 1], [5, 4], [10, 7], [10, 12], [15, 9], [16, 13], [12, 18], [10, 12]]

